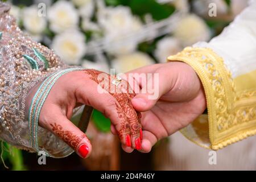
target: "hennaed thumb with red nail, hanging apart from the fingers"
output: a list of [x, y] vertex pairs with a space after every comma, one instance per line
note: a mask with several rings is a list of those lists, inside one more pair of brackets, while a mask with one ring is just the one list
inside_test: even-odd
[[[40, 114], [41, 116], [42, 114]], [[39, 125], [51, 131], [57, 137], [67, 143], [81, 158], [87, 158], [92, 151], [90, 140], [86, 135], [76, 127], [69, 119], [61, 112], [43, 114], [42, 119], [39, 119]], [[46, 119], [47, 118], [47, 119]]]

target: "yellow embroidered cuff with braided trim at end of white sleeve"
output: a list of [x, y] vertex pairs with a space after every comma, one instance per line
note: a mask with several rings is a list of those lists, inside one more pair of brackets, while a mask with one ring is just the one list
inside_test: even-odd
[[209, 48], [187, 47], [168, 57], [168, 61], [191, 65], [207, 98], [208, 115], [201, 115], [182, 129], [185, 137], [218, 150], [256, 134], [256, 92], [236, 92], [231, 73], [220, 56]]

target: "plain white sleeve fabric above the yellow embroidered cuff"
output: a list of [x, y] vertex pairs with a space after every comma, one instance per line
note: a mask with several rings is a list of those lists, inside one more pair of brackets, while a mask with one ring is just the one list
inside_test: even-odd
[[198, 42], [193, 47], [208, 47], [218, 53], [232, 77], [256, 69], [256, 1], [242, 11], [236, 19], [209, 43]]

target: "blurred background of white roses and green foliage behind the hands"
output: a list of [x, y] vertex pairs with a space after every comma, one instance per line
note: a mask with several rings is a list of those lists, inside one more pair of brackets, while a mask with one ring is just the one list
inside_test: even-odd
[[[184, 47], [208, 41], [220, 34], [247, 5], [247, 1], [241, 0], [7, 2], [12, 4], [10, 13], [22, 30], [54, 49], [65, 63], [107, 73], [110, 68], [115, 68], [116, 73], [123, 73], [145, 65], [164, 63], [167, 56]], [[209, 16], [210, 3], [215, 3], [217, 16]], [[73, 169], [158, 169], [162, 165], [160, 158], [168, 158], [168, 154], [162, 152], [170, 142], [168, 139], [157, 144], [150, 154], [133, 152], [127, 155], [109, 134], [108, 119], [94, 111], [92, 120], [89, 136], [94, 137], [92, 143], [101, 144], [93, 146], [93, 156], [85, 161], [71, 155], [67, 159], [49, 159], [50, 164], [42, 167], [36, 164], [35, 154], [16, 150], [6, 143], [2, 143], [2, 161], [14, 170], [71, 169], [63, 163], [76, 164]], [[30, 163], [30, 160], [34, 162]], [[144, 166], [134, 168], [133, 161], [139, 163], [140, 160]], [[3, 164], [0, 168], [6, 169]]]

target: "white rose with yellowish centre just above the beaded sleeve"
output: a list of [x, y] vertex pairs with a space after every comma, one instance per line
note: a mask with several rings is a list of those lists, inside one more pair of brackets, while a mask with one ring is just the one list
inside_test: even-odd
[[56, 35], [51, 47], [65, 63], [79, 64], [86, 51], [85, 36], [78, 30], [68, 30]]

